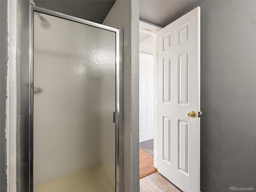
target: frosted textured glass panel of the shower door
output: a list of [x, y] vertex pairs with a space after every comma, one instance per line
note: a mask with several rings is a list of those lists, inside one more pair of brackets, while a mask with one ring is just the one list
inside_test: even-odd
[[34, 192], [114, 192], [116, 34], [34, 12]]

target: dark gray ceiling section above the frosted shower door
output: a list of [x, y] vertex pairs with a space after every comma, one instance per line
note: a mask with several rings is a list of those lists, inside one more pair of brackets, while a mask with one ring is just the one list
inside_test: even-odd
[[102, 24], [116, 0], [34, 0], [34, 2], [38, 7]]

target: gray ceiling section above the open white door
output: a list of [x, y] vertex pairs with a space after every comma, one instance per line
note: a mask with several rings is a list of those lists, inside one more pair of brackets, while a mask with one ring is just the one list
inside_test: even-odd
[[205, 0], [139, 0], [140, 20], [165, 27]]

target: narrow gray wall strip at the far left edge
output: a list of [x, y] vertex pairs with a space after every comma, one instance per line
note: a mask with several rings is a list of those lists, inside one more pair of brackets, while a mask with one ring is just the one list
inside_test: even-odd
[[0, 0], [0, 192], [7, 191], [6, 181], [6, 64], [7, 1]]

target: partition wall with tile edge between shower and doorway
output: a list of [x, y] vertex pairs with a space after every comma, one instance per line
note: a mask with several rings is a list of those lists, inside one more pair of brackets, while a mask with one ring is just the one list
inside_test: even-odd
[[[133, 18], [132, 18], [132, 12]], [[134, 19], [134, 20], [133, 20]], [[138, 1], [117, 0], [105, 18], [103, 24], [121, 30], [120, 64], [120, 154], [121, 154], [121, 192], [139, 191], [139, 150], [138, 103], [132, 101], [132, 92], [138, 92], [138, 71], [132, 71], [132, 66], [138, 65], [139, 42]], [[138, 33], [138, 34], [137, 34]], [[134, 37], [134, 38], [133, 38]], [[134, 76], [133, 76], [134, 75]], [[135, 86], [133, 83], [135, 82]], [[136, 98], [138, 99], [138, 98]], [[135, 107], [134, 107], [135, 106]], [[135, 138], [135, 139], [134, 139]], [[132, 166], [135, 162], [136, 166]]]

